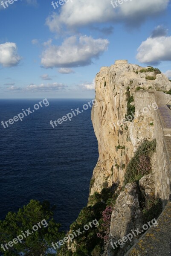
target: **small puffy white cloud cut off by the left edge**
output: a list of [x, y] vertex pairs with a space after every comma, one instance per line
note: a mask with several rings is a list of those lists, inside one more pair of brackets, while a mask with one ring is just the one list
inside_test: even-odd
[[17, 54], [17, 45], [15, 43], [6, 42], [0, 44], [0, 64], [3, 67], [16, 66], [21, 60], [21, 57]]

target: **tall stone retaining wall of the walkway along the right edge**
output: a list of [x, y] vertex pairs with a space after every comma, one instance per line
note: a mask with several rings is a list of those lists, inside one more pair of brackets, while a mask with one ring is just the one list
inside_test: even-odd
[[[164, 207], [171, 194], [171, 110], [166, 106], [171, 96], [163, 92], [142, 90], [134, 93], [134, 99], [136, 115], [147, 107], [150, 110], [147, 114], [154, 119], [154, 138], [157, 139], [154, 166], [155, 192], [162, 199]], [[153, 106], [158, 106], [158, 109]]]

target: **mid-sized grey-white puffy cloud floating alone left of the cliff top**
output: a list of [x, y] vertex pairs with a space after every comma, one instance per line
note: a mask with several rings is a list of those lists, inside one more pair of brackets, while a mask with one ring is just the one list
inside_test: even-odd
[[109, 44], [107, 39], [93, 39], [91, 36], [71, 36], [61, 46], [49, 46], [42, 53], [44, 67], [81, 67], [99, 58]]

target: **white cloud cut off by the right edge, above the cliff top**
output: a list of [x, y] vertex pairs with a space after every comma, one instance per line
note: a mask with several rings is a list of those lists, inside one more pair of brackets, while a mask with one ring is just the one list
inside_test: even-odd
[[136, 58], [141, 63], [159, 64], [161, 61], [171, 61], [171, 36], [147, 38], [137, 51]]

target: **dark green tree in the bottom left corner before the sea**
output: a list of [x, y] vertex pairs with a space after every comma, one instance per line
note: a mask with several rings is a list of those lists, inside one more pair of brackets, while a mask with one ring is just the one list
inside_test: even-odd
[[[22, 232], [29, 230], [30, 235], [25, 233], [23, 240], [20, 236], [21, 243], [18, 241], [13, 243], [9, 250], [0, 248], [4, 256], [19, 256], [21, 252], [25, 256], [31, 255], [55, 255], [52, 253], [52, 241], [58, 241], [64, 237], [64, 233], [59, 232], [60, 224], [53, 220], [53, 210], [50, 208], [49, 202], [42, 204], [37, 200], [31, 200], [28, 205], [20, 208], [18, 212], [9, 212], [4, 221], [0, 221], [0, 244], [9, 243]], [[38, 223], [41, 227], [38, 227]], [[37, 231], [33, 231], [34, 226], [38, 227]], [[34, 229], [36, 229], [34, 227]], [[11, 244], [11, 243], [10, 243]], [[12, 245], [12, 244], [11, 244]], [[51, 251], [51, 253], [50, 253]], [[48, 253], [49, 252], [49, 253]]]

